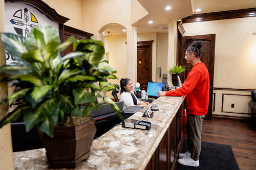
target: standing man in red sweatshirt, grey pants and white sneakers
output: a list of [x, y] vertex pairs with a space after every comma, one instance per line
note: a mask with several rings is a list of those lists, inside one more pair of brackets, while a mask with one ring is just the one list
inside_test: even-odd
[[199, 58], [201, 47], [202, 43], [197, 41], [186, 50], [185, 59], [187, 64], [193, 65], [193, 68], [189, 71], [182, 87], [158, 92], [158, 96], [186, 95], [188, 151], [179, 154], [178, 162], [187, 166], [199, 166], [203, 118], [209, 103], [209, 72]]

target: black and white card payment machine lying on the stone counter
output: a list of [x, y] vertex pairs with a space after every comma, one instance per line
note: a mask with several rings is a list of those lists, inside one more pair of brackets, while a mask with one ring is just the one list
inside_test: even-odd
[[145, 120], [136, 120], [136, 119], [127, 118], [122, 123], [122, 127], [123, 128], [150, 130], [151, 123], [147, 122]]

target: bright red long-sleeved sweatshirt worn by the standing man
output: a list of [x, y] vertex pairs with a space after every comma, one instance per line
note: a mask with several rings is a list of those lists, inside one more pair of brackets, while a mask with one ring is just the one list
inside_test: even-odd
[[186, 109], [188, 114], [204, 115], [209, 104], [210, 79], [208, 69], [200, 62], [189, 71], [182, 87], [166, 91], [166, 96], [186, 95]]

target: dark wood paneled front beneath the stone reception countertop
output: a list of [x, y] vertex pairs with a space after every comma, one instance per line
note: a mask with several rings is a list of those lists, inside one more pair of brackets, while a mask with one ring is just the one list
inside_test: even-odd
[[151, 160], [145, 170], [175, 169], [177, 164], [178, 151], [183, 135], [183, 114], [184, 104], [182, 104], [169, 125], [165, 135], [160, 141]]

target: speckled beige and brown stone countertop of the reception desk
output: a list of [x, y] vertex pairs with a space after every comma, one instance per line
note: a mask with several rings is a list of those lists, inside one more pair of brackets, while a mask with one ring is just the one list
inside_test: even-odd
[[[130, 117], [151, 122], [150, 130], [114, 127], [93, 140], [89, 159], [75, 169], [145, 169], [183, 100], [184, 96], [158, 98]], [[152, 118], [142, 117], [151, 105], [157, 105], [159, 111], [154, 111]], [[15, 169], [48, 169], [45, 152], [45, 149], [14, 152]]]

